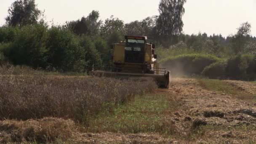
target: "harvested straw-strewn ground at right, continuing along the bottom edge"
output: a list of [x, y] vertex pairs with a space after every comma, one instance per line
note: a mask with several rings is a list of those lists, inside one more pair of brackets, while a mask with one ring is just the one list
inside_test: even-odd
[[[239, 88], [243, 93], [256, 94], [256, 84], [243, 81], [226, 80]], [[85, 133], [88, 141], [126, 141], [126, 143], [255, 143], [256, 141], [256, 102], [239, 99], [237, 96], [216, 91], [208, 91], [200, 87], [195, 79], [174, 78], [171, 88], [159, 89], [158, 93], [179, 97], [182, 104], [173, 112], [170, 123], [175, 123], [184, 136], [188, 136], [193, 128], [195, 138], [188, 139], [165, 137], [157, 133], [116, 134]], [[205, 126], [205, 129], [199, 128]], [[207, 125], [209, 125], [207, 127]], [[192, 134], [191, 134], [192, 135]], [[199, 135], [199, 136], [198, 136]], [[191, 139], [190, 139], [191, 138]]]

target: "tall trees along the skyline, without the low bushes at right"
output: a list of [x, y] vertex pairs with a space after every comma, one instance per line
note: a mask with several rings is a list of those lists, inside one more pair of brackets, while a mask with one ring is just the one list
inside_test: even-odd
[[111, 64], [110, 46], [124, 35], [154, 37], [158, 47], [174, 53], [182, 50], [226, 57], [255, 51], [256, 38], [250, 35], [248, 22], [228, 37], [182, 33], [184, 3], [186, 0], [160, 0], [159, 15], [130, 23], [114, 16], [102, 21], [99, 11], [92, 11], [81, 19], [51, 25], [35, 0], [16, 0], [6, 24], [0, 27], [0, 64], [10, 61], [33, 68], [85, 72], [92, 64]]

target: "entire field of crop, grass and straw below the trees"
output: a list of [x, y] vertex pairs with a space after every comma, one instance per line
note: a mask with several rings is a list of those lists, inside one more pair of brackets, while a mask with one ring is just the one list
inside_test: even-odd
[[[249, 82], [174, 78], [171, 88], [166, 90], [156, 89], [151, 80], [143, 79], [136, 80], [136, 83], [134, 79], [121, 81], [95, 77], [15, 76], [1, 80], [5, 82], [2, 85], [5, 89], [1, 92], [9, 94], [6, 95], [9, 99], [5, 98], [5, 101], [7, 99], [12, 102], [9, 104], [16, 104], [9, 109], [7, 106], [4, 108], [12, 110], [9, 112], [20, 110], [16, 117], [7, 112], [5, 116], [26, 120], [1, 121], [2, 141], [181, 144], [253, 144], [256, 141], [256, 86]], [[55, 91], [58, 88], [61, 90]], [[45, 90], [48, 93], [42, 94]], [[49, 93], [51, 99], [46, 99], [48, 97], [44, 96]], [[93, 99], [81, 93], [93, 96]], [[18, 99], [17, 95], [32, 100]], [[1, 96], [2, 99], [5, 95]], [[70, 96], [73, 97], [68, 98]], [[38, 97], [41, 102], [37, 101]], [[80, 99], [74, 102], [75, 98]], [[18, 100], [23, 100], [27, 106], [29, 117], [21, 115], [26, 110], [21, 107], [24, 106], [22, 103], [16, 102]], [[33, 101], [35, 105], [29, 105]], [[46, 105], [46, 101], [52, 103]], [[62, 104], [66, 104], [65, 107]], [[72, 107], [83, 109], [71, 111]], [[38, 111], [47, 115], [39, 115]]]

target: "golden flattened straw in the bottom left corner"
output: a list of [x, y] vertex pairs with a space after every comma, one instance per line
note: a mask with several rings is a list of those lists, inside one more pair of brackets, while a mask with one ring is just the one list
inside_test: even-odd
[[79, 139], [72, 120], [46, 117], [40, 120], [4, 120], [0, 122], [0, 143], [46, 143]]

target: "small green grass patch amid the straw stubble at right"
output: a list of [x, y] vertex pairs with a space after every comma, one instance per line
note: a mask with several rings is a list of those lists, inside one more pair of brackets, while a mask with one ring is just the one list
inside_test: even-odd
[[200, 86], [209, 91], [216, 91], [226, 94], [242, 93], [238, 88], [222, 80], [200, 79]]

